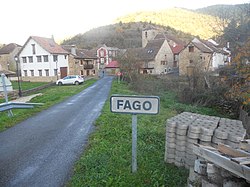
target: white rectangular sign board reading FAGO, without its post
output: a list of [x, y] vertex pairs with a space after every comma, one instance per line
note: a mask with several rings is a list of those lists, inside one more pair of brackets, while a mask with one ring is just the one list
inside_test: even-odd
[[159, 100], [157, 96], [112, 95], [110, 110], [114, 113], [158, 114]]

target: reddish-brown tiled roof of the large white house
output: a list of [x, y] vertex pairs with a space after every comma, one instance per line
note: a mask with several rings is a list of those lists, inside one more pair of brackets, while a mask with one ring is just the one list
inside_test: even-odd
[[31, 39], [35, 40], [43, 49], [45, 49], [51, 54], [68, 54], [68, 52], [64, 50], [62, 46], [58, 45], [53, 38], [30, 36], [24, 46], [26, 46], [28, 41], [30, 41]]

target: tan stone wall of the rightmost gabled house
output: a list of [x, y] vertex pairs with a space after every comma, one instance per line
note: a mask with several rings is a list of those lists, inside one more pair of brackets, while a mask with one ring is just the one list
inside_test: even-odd
[[[194, 46], [194, 51], [189, 52], [189, 44], [185, 49], [180, 52], [179, 55], [179, 75], [188, 75], [188, 68], [194, 67], [199, 69], [199, 71], [207, 70], [208, 66], [211, 66], [209, 63], [211, 59], [210, 53], [203, 53], [200, 49]], [[193, 62], [190, 63], [190, 60]]]

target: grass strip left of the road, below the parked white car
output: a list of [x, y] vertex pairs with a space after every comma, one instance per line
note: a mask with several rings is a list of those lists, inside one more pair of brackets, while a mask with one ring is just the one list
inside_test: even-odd
[[[85, 81], [84, 84], [79, 86], [52, 86], [43, 90], [40, 90], [39, 93], [42, 93], [41, 96], [33, 98], [30, 102], [34, 103], [44, 103], [44, 105], [35, 107], [33, 109], [13, 109], [12, 112], [14, 113], [13, 117], [8, 117], [8, 112], [1, 112], [0, 113], [0, 131], [6, 130], [15, 124], [29, 118], [30, 116], [49, 108], [50, 106], [59, 103], [66, 98], [73, 96], [83, 89], [87, 88], [91, 84], [93, 84], [96, 80], [90, 79]], [[26, 83], [27, 89], [30, 89], [34, 84], [28, 85]], [[39, 84], [41, 86], [41, 84]], [[34, 93], [35, 94], [35, 93]]]

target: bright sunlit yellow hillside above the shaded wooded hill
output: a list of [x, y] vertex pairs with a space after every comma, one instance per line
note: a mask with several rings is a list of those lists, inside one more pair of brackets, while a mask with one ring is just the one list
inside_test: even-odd
[[181, 8], [157, 12], [136, 12], [120, 17], [116, 21], [122, 23], [151, 22], [157, 25], [172, 27], [203, 39], [213, 38], [222, 34], [220, 30], [222, 22], [216, 17]]

